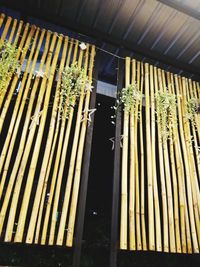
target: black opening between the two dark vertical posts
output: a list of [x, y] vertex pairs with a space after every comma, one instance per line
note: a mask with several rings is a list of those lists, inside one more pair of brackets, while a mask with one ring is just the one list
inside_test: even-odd
[[112, 207], [115, 99], [97, 94], [81, 266], [108, 266]]

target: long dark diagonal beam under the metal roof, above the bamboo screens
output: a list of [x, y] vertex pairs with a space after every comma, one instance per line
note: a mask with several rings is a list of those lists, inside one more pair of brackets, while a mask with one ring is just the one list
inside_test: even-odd
[[[26, 5], [22, 5], [21, 4], [22, 2], [2, 0], [1, 5], [4, 5], [5, 7], [12, 8], [18, 11], [21, 10], [24, 11], [24, 6]], [[127, 56], [128, 54], [130, 54], [130, 52], [134, 52], [138, 55], [146, 57], [147, 61], [148, 59], [153, 59], [155, 61], [159, 61], [160, 63], [170, 65], [185, 72], [200, 76], [200, 69], [192, 66], [191, 64], [182, 62], [181, 60], [174, 60], [173, 57], [170, 57], [168, 55], [167, 56], [163, 55], [162, 53], [149, 49], [149, 47], [144, 47], [136, 43], [131, 43], [126, 40], [121, 40], [120, 38], [116, 38], [111, 34], [105, 33], [101, 30], [95, 29], [94, 31], [94, 29], [84, 26], [83, 24], [80, 24], [77, 21], [69, 20], [65, 16], [54, 16], [53, 14], [45, 13], [44, 10], [42, 9], [34, 7], [27, 8], [26, 12], [27, 16], [34, 16], [41, 20], [46, 20], [56, 25], [68, 28], [71, 31], [77, 32], [80, 34], [80, 39], [81, 35], [86, 35], [88, 37], [94, 38], [94, 43], [96, 43], [96, 41], [101, 43], [105, 42], [113, 45], [114, 47], [126, 49]]]

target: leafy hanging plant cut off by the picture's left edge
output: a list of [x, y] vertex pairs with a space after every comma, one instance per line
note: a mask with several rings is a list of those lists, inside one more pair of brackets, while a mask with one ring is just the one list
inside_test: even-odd
[[7, 41], [0, 42], [0, 96], [8, 87], [11, 76], [18, 69], [17, 48]]

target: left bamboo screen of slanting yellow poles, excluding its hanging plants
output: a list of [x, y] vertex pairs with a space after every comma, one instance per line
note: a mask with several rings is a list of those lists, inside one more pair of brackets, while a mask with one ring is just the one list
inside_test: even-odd
[[[10, 44], [17, 47], [13, 55], [19, 62], [17, 71], [9, 66], [0, 91], [1, 240], [70, 247], [91, 114], [95, 47], [81, 49], [77, 40], [4, 14], [0, 27], [0, 64]], [[62, 77], [73, 63], [88, 80], [69, 105], [70, 94], [62, 95]], [[67, 118], [62, 109], [68, 109]]]

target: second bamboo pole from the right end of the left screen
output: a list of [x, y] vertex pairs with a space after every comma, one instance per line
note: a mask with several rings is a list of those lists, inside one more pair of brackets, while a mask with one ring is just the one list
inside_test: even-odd
[[[85, 55], [85, 64], [84, 64], [85, 74], [87, 73], [87, 68], [88, 68], [88, 53], [89, 53], [89, 47], [87, 46], [87, 51], [86, 51], [86, 55]], [[81, 65], [81, 61], [82, 61], [82, 57], [81, 57], [81, 60], [79, 60], [79, 65]], [[76, 158], [76, 153], [77, 153], [77, 149], [78, 149], [78, 139], [79, 139], [80, 127], [81, 127], [81, 113], [82, 113], [82, 109], [83, 109], [84, 90], [85, 90], [85, 88], [83, 86], [81, 89], [81, 96], [80, 96], [80, 100], [79, 100], [79, 107], [78, 107], [74, 140], [73, 140], [72, 151], [71, 151], [69, 171], [68, 171], [67, 183], [66, 183], [66, 187], [65, 187], [65, 195], [64, 195], [64, 201], [63, 201], [63, 206], [62, 206], [62, 213], [61, 213], [61, 218], [60, 218], [58, 235], [57, 235], [57, 240], [56, 240], [57, 245], [63, 244], [66, 219], [67, 219], [67, 214], [68, 214], [68, 209], [69, 209], [69, 199], [70, 199], [71, 190], [72, 190], [73, 174], [74, 174], [74, 168], [75, 168], [75, 158]], [[67, 144], [68, 144], [68, 141], [67, 141]], [[65, 151], [66, 151], [66, 149], [64, 150], [64, 152]], [[61, 161], [63, 161], [64, 155], [65, 154], [62, 155]], [[63, 175], [63, 168], [64, 168], [64, 165], [61, 166], [61, 168], [59, 170], [61, 172], [60, 175]]]

